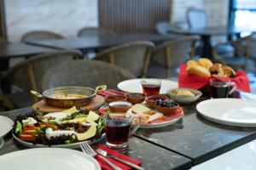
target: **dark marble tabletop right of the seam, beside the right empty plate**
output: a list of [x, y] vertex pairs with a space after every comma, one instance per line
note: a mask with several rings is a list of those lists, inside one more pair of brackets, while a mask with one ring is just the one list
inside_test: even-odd
[[193, 165], [256, 139], [256, 127], [234, 127], [200, 116], [195, 105], [183, 106], [184, 116], [172, 126], [140, 129], [136, 136], [193, 160]]

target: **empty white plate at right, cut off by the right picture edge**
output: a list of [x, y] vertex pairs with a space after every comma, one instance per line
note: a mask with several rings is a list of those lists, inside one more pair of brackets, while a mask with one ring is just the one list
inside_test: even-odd
[[243, 99], [208, 99], [196, 105], [201, 116], [213, 122], [256, 127], [256, 103]]

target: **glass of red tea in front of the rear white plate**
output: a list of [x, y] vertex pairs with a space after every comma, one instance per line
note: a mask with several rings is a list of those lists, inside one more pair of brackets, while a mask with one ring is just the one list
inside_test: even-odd
[[141, 81], [143, 94], [145, 96], [159, 95], [161, 88], [161, 80], [155, 78], [145, 78]]

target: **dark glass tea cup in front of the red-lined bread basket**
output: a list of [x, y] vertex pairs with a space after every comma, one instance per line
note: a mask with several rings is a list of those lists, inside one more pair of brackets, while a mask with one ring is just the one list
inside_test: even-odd
[[218, 79], [210, 79], [211, 97], [227, 98], [236, 90], [236, 82], [223, 82]]

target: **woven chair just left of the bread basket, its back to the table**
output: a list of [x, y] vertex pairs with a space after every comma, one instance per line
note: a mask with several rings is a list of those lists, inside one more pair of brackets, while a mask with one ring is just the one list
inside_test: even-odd
[[[184, 63], [187, 59], [193, 59], [195, 55], [195, 42], [199, 40], [196, 36], [180, 37], [177, 40], [164, 42], [155, 47], [152, 52], [152, 62], [163, 66], [166, 70], [166, 78], [171, 77], [171, 71], [176, 69], [180, 64]], [[158, 75], [150, 75], [150, 70], [154, 71], [154, 67], [148, 69], [148, 77], [158, 77]]]

